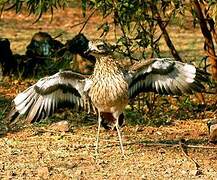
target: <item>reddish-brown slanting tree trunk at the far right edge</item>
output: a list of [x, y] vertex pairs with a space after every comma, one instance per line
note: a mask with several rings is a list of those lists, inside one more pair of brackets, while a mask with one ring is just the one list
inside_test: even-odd
[[206, 51], [209, 57], [209, 61], [211, 63], [212, 78], [214, 80], [217, 80], [217, 57], [215, 54], [215, 47], [212, 40], [212, 34], [208, 29], [207, 22], [206, 19], [204, 18], [200, 3], [198, 2], [198, 0], [192, 0], [192, 2], [194, 5], [196, 16], [200, 23], [201, 32], [205, 39], [204, 50]]

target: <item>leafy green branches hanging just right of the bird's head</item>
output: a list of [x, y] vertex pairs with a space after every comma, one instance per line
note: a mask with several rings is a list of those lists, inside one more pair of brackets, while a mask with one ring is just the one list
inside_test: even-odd
[[[183, 2], [177, 0], [91, 0], [82, 1], [82, 4], [85, 4], [82, 6], [85, 7], [83, 12], [89, 7], [98, 10], [103, 19], [108, 16], [112, 19], [112, 23], [104, 22], [105, 20], [102, 22], [102, 36], [108, 34], [110, 26], [115, 26], [115, 32], [121, 32], [116, 40], [120, 45], [118, 47], [121, 47], [119, 52], [131, 59], [137, 59], [135, 52], [140, 54], [139, 59], [146, 58], [148, 48], [151, 49], [151, 57], [159, 57], [159, 40], [162, 36], [157, 34], [158, 24], [163, 23], [166, 26], [171, 17], [184, 13], [185, 9]], [[162, 21], [159, 21], [158, 13]]]

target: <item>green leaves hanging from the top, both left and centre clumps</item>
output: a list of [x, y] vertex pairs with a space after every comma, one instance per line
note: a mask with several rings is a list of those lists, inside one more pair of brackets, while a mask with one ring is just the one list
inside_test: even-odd
[[[161, 23], [156, 18], [156, 12], [153, 6], [156, 6], [163, 21], [170, 21], [174, 12], [183, 11], [182, 1], [142, 1], [142, 0], [82, 0], [81, 8], [83, 16], [90, 9], [101, 13], [102, 18], [110, 17], [112, 23], [102, 21], [99, 26], [103, 30], [102, 36], [106, 36], [110, 31], [110, 26], [115, 26], [115, 32], [121, 32], [117, 38], [119, 51], [125, 56], [133, 59], [133, 53], [139, 51], [141, 58], [146, 57], [146, 49], [150, 48], [151, 56], [159, 55], [159, 40], [161, 35], [157, 36], [157, 24]], [[0, 2], [1, 10], [15, 9], [16, 13], [25, 9], [29, 14], [37, 16], [36, 22], [42, 17], [43, 13], [49, 12], [53, 15], [54, 9], [70, 7], [73, 4], [67, 0], [7, 0]]]

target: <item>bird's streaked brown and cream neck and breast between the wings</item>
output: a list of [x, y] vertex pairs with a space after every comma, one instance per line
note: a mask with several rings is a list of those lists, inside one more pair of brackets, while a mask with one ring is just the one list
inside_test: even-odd
[[128, 82], [112, 57], [97, 60], [91, 79], [89, 96], [94, 106], [100, 112], [123, 112], [128, 104]]

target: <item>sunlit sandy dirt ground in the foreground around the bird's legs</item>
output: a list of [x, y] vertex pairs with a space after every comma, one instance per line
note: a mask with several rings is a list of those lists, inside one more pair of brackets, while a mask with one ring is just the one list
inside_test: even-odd
[[[216, 149], [207, 145], [201, 120], [179, 121], [168, 127], [127, 126], [122, 130], [126, 157], [116, 132], [102, 130], [94, 159], [96, 125], [58, 133], [26, 128], [0, 139], [2, 179], [216, 179]], [[192, 148], [178, 146], [180, 138]], [[193, 145], [195, 147], [193, 147]], [[198, 174], [198, 175], [197, 175]]]

